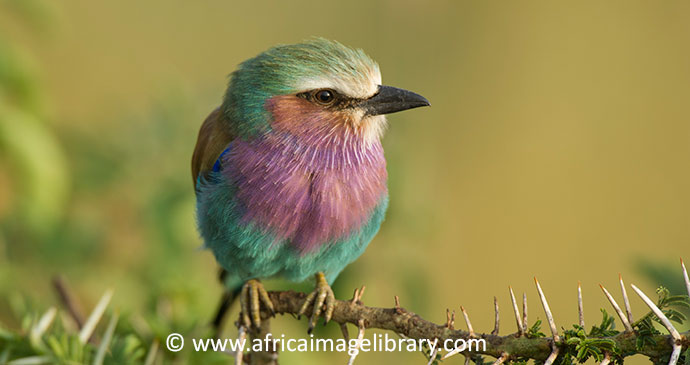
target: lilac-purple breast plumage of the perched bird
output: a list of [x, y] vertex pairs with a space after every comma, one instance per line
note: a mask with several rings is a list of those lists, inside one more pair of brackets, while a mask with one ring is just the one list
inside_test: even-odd
[[274, 130], [235, 140], [223, 174], [237, 188], [244, 222], [302, 254], [359, 230], [386, 194], [386, 162], [379, 141], [365, 144], [350, 132], [334, 128], [325, 138]]

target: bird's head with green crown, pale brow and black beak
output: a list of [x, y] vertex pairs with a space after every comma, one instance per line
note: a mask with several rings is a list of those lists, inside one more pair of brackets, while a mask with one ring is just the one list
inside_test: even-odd
[[382, 135], [385, 114], [428, 105], [421, 95], [381, 85], [378, 65], [362, 50], [318, 38], [243, 62], [230, 77], [222, 110], [241, 138], [345, 130], [367, 142]]

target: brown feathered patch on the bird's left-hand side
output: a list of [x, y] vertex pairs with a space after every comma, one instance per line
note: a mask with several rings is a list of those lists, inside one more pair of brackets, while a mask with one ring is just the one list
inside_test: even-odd
[[194, 147], [192, 178], [195, 187], [199, 174], [213, 168], [218, 156], [234, 138], [230, 126], [224, 120], [223, 113], [220, 108], [216, 108], [201, 125], [196, 147]]

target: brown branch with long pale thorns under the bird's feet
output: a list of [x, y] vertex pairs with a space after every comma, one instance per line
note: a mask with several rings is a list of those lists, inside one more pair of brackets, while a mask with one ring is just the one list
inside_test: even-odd
[[[688, 287], [688, 296], [690, 297], [690, 281], [688, 280], [688, 276], [685, 271], [685, 265], [683, 265], [683, 272], [686, 286]], [[622, 278], [619, 280], [622, 285]], [[558, 334], [551, 310], [549, 309], [546, 301], [546, 296], [541, 290], [539, 282], [536, 281], [536, 278], [535, 283], [542, 306], [544, 307], [546, 318], [548, 320], [548, 326], [552, 332], [552, 336], [550, 338], [542, 337], [543, 335], [539, 333], [538, 329], [531, 331], [531, 329], [528, 328], [525, 318], [527, 311], [526, 299], [523, 295], [523, 317], [521, 318], [512, 288], [510, 289], [510, 296], [513, 302], [513, 310], [517, 323], [517, 332], [505, 336], [498, 335], [499, 316], [497, 305], [495, 305], [496, 324], [492, 333], [476, 333], [471, 327], [469, 316], [467, 315], [467, 312], [464, 311], [464, 308], [462, 308], [462, 312], [469, 331], [454, 329], [454, 313], [452, 319], [450, 314], [447, 314], [448, 318], [446, 323], [436, 324], [427, 321], [419, 315], [401, 307], [397, 297], [395, 298], [395, 306], [392, 308], [365, 306], [361, 302], [361, 292], [359, 292], [359, 290], [355, 291], [354, 297], [351, 300], [336, 300], [332, 321], [340, 324], [341, 328], [343, 328], [347, 323], [357, 326], [359, 329], [358, 338], [360, 339], [363, 336], [364, 331], [369, 328], [389, 330], [397, 333], [402, 338], [410, 338], [415, 340], [428, 339], [431, 341], [438, 339], [439, 343], [442, 343], [442, 341], [448, 339], [463, 339], [465, 341], [469, 341], [470, 339], [484, 339], [486, 341], [486, 348], [484, 350], [480, 349], [479, 351], [476, 351], [476, 349], [473, 349], [471, 353], [468, 353], [467, 351], [459, 351], [459, 349], [456, 349], [456, 351], [447, 353], [443, 358], [445, 359], [458, 353], [464, 354], [468, 360], [470, 358], [475, 358], [477, 355], [488, 355], [496, 358], [496, 362], [494, 362], [495, 364], [533, 359], [549, 365], [554, 363], [559, 356], [564, 356], [564, 354], [578, 353], [578, 351], [581, 349], [580, 346], [584, 346], [582, 345], [583, 342], [578, 342], [579, 340], [589, 340], [592, 341], [590, 343], [606, 344], [605, 346], [599, 348], [599, 350], [601, 350], [599, 353], [599, 355], [601, 355], [599, 361], [601, 361], [602, 364], [608, 364], [610, 362], [622, 362], [624, 357], [635, 354], [646, 355], [654, 363], [668, 362], [669, 364], [676, 364], [680, 354], [683, 351], [686, 351], [690, 346], [690, 332], [679, 333], [673, 327], [669, 319], [664, 315], [664, 312], [660, 310], [657, 305], [654, 304], [654, 302], [652, 302], [634, 285], [631, 285], [631, 287], [635, 293], [637, 293], [649, 306], [651, 313], [656, 316], [659, 323], [666, 327], [670, 333], [669, 335], [659, 333], [641, 333], [640, 331], [633, 329], [632, 326], [641, 322], [645, 318], [649, 318], [650, 315], [643, 317], [638, 322], [633, 324], [627, 293], [623, 291], [626, 310], [626, 313], [624, 314], [618, 304], [611, 297], [611, 294], [602, 287], [607, 298], [609, 298], [611, 304], [616, 309], [619, 319], [626, 324], [625, 331], [620, 333], [616, 332], [616, 334], [609, 336], [592, 335], [592, 333], [590, 333], [589, 335], [582, 335], [583, 337], [581, 337], [579, 340], [576, 338], [578, 341], [572, 341], [572, 339], [569, 340], [568, 332], [572, 333], [573, 331], [565, 331], [566, 333], [563, 335]], [[579, 328], [583, 329], [584, 316], [582, 313], [582, 297], [579, 288], [578, 293], [578, 309], [580, 312]], [[291, 314], [293, 316], [299, 312], [300, 307], [306, 298], [305, 293], [293, 291], [273, 291], [269, 292], [268, 294], [273, 302], [274, 309], [277, 314]], [[687, 299], [684, 300], [687, 302]], [[268, 311], [262, 311], [261, 317], [262, 323], [265, 323], [265, 326], [268, 326], [271, 314]], [[576, 327], [576, 329], [577, 328], [578, 327]], [[260, 333], [252, 332], [253, 331], [249, 332], [252, 338], [262, 338], [267, 333], [265, 328], [263, 328]], [[343, 333], [346, 334], [347, 330], [344, 329]], [[438, 349], [435, 349], [434, 352], [430, 354], [429, 364], [433, 363], [436, 357], [436, 350]], [[245, 361], [248, 361], [252, 364], [272, 364], [276, 362], [277, 352], [273, 352], [269, 356], [266, 355], [267, 354], [249, 354], [249, 358], [245, 357]], [[596, 356], [594, 357], [596, 358]], [[265, 361], [262, 361], [262, 359]], [[242, 360], [240, 360], [240, 362], [241, 361]], [[349, 363], [352, 363], [353, 361], [354, 356], [350, 358]], [[465, 363], [468, 362], [466, 361]]]

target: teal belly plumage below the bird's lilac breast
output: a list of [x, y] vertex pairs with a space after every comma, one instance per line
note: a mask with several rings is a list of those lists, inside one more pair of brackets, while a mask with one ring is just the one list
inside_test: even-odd
[[204, 244], [231, 277], [240, 282], [271, 277], [299, 282], [317, 272], [323, 272], [328, 282], [333, 282], [345, 266], [364, 252], [388, 207], [388, 195], [383, 195], [362, 227], [347, 237], [324, 242], [314, 252], [300, 253], [289, 240], [276, 239], [262, 227], [243, 222], [243, 209], [235, 199], [234, 187], [222, 179], [199, 185], [197, 222]]

